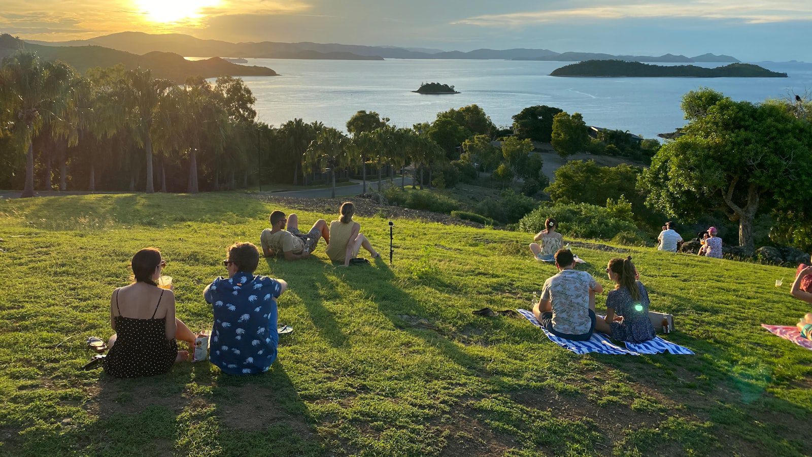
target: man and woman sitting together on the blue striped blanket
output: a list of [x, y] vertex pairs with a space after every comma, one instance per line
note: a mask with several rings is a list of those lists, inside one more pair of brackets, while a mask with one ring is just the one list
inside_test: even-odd
[[595, 294], [603, 286], [588, 272], [575, 270], [570, 250], [555, 253], [558, 274], [544, 282], [542, 297], [533, 306], [533, 316], [557, 337], [586, 341], [595, 331], [623, 342], [645, 342], [656, 336], [649, 320], [649, 296], [637, 281], [632, 259], [611, 259], [607, 266], [615, 289], [607, 296], [607, 316], [595, 316]]

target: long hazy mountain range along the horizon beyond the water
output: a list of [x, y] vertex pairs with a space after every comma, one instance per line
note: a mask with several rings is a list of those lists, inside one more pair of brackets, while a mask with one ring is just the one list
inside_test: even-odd
[[[42, 46], [104, 46], [133, 54], [151, 51], [172, 52], [189, 57], [253, 57], [266, 59], [515, 59], [515, 60], [555, 60], [577, 62], [594, 59], [624, 59], [638, 62], [739, 62], [729, 55], [702, 54], [693, 58], [684, 55], [665, 54], [651, 56], [615, 56], [611, 54], [565, 52], [563, 54], [546, 49], [479, 49], [468, 52], [459, 50], [443, 51], [425, 48], [404, 48], [398, 46], [359, 46], [337, 43], [283, 43], [276, 41], [231, 43], [219, 40], [203, 40], [180, 33], [150, 34], [122, 32], [75, 41], [31, 41]], [[673, 59], [673, 60], [667, 60]]]

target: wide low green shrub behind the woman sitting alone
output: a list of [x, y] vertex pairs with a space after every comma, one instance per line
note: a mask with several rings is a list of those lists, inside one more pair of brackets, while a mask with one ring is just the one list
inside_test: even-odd
[[607, 208], [589, 203], [546, 204], [538, 207], [519, 221], [522, 232], [538, 233], [544, 229], [544, 220], [552, 217], [559, 223], [559, 231], [569, 237], [608, 240], [618, 233], [636, 233], [631, 220], [619, 219]]

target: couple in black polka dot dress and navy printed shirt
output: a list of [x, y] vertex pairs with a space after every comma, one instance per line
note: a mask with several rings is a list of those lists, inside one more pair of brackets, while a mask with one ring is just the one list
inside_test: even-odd
[[[276, 298], [287, 283], [255, 276], [257, 246], [236, 243], [223, 261], [228, 277], [218, 277], [203, 296], [212, 304], [214, 328], [209, 336], [211, 363], [229, 374], [265, 372], [276, 359], [279, 343]], [[175, 340], [194, 349], [196, 335], [175, 317], [174, 289], [158, 287], [166, 261], [153, 248], [132, 257], [135, 281], [113, 291], [110, 299], [110, 351], [103, 362], [116, 377], [153, 376], [188, 359]]]

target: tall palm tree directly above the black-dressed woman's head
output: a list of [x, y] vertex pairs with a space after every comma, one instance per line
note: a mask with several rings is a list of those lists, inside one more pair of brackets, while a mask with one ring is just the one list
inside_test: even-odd
[[145, 192], [153, 194], [152, 124], [158, 102], [173, 84], [169, 80], [154, 79], [151, 70], [139, 69], [128, 71], [123, 82], [120, 86], [123, 106], [127, 108], [136, 141], [144, 146], [147, 162]]

